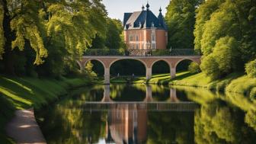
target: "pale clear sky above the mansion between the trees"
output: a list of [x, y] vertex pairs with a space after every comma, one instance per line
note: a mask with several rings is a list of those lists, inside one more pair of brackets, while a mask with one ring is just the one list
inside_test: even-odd
[[[165, 15], [166, 7], [170, 0], [148, 0], [150, 10], [158, 16], [159, 8], [162, 7], [162, 14]], [[146, 7], [147, 0], [103, 0], [108, 16], [123, 21], [125, 12], [142, 11], [142, 5]]]

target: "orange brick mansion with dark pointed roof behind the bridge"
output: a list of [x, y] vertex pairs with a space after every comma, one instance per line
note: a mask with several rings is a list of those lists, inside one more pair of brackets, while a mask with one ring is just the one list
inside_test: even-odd
[[159, 10], [158, 17], [149, 10], [149, 4], [142, 6], [142, 11], [124, 13], [124, 41], [130, 50], [166, 49], [168, 31]]

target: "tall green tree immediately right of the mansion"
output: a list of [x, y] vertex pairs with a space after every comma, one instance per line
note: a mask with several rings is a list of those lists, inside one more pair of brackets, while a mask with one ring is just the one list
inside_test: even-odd
[[194, 48], [195, 10], [202, 1], [172, 0], [167, 7], [168, 47]]

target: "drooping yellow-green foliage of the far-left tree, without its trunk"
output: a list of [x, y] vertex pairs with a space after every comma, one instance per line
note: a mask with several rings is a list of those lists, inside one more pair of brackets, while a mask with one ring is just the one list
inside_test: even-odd
[[[47, 50], [43, 44], [43, 38], [39, 31], [37, 11], [39, 7], [35, 1], [11, 2], [9, 11], [5, 11], [11, 15], [11, 31], [14, 32], [15, 39], [11, 42], [11, 47], [18, 47], [24, 50], [25, 40], [28, 40], [31, 48], [35, 51], [36, 59], [34, 64], [43, 63], [43, 58], [47, 56]], [[5, 5], [4, 5], [5, 6]]]

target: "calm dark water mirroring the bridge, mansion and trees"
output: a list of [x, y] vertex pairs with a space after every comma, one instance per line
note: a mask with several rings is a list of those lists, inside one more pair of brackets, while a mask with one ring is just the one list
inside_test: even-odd
[[157, 85], [96, 85], [37, 112], [50, 144], [256, 142], [256, 102]]

